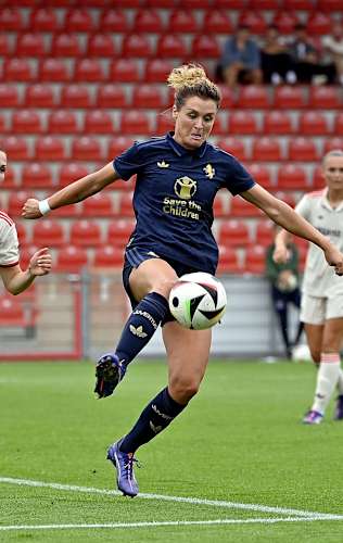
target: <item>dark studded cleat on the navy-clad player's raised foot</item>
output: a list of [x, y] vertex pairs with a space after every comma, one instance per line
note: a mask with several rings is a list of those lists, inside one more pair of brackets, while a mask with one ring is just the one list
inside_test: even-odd
[[111, 396], [116, 386], [125, 376], [126, 366], [119, 362], [114, 353], [106, 353], [101, 356], [96, 368], [94, 392], [99, 397]]

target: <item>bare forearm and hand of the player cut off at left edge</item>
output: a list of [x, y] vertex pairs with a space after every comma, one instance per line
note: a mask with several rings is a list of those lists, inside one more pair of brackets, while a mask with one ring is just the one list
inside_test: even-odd
[[48, 248], [40, 249], [35, 253], [25, 272], [21, 266], [0, 267], [0, 276], [5, 289], [11, 294], [20, 294], [26, 290], [38, 276], [47, 275], [51, 270], [51, 254]]

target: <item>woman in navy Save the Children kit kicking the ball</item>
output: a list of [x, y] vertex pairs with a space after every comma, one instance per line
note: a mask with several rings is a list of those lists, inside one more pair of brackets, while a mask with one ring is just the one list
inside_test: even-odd
[[29, 199], [26, 218], [85, 200], [111, 182], [137, 174], [134, 209], [137, 219], [125, 252], [124, 287], [134, 307], [114, 353], [97, 365], [96, 391], [112, 394], [127, 365], [148, 343], [158, 325], [168, 359], [168, 387], [143, 409], [134, 428], [110, 446], [107, 458], [117, 469], [117, 485], [135, 496], [134, 453], [164, 430], [196, 394], [206, 369], [211, 330], [188, 330], [170, 319], [168, 294], [178, 276], [191, 272], [214, 274], [218, 248], [211, 231], [213, 202], [220, 188], [264, 210], [277, 224], [309, 239], [325, 252], [336, 273], [343, 255], [285, 203], [256, 185], [230, 154], [209, 144], [208, 138], [220, 103], [218, 88], [201, 66], [173, 70], [168, 84], [175, 89], [175, 131], [135, 143], [114, 162], [47, 200]]

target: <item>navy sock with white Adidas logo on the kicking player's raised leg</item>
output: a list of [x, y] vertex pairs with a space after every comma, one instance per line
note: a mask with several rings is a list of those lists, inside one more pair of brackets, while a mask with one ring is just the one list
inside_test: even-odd
[[169, 311], [167, 300], [157, 292], [150, 292], [129, 316], [115, 354], [127, 366], [147, 345]]

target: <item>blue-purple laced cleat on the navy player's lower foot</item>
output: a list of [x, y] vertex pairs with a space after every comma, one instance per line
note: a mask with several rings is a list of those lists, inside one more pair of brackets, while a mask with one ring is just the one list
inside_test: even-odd
[[117, 441], [107, 451], [107, 460], [111, 460], [117, 470], [117, 487], [125, 496], [135, 497], [138, 494], [138, 484], [134, 475], [134, 453], [123, 453], [119, 450], [122, 441]]

